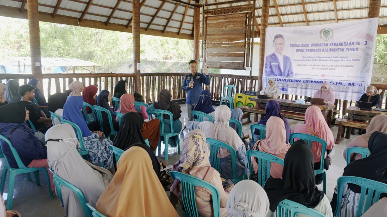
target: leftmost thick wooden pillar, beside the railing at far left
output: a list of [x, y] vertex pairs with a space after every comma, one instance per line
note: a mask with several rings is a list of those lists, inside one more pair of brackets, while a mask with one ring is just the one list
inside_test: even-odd
[[[31, 71], [34, 78], [42, 80], [42, 67], [40, 58], [40, 35], [39, 35], [39, 11], [38, 0], [27, 0], [27, 14], [29, 27], [29, 47], [31, 56]], [[41, 82], [43, 85], [43, 82]], [[43, 88], [42, 88], [43, 90]]]

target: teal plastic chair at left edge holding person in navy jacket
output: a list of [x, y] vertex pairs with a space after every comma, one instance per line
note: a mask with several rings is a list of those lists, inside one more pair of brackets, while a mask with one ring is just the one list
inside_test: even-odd
[[[17, 153], [16, 149], [12, 146], [11, 142], [5, 138], [4, 136], [0, 135], [0, 140], [3, 140], [5, 143], [8, 144], [9, 148], [11, 149], [12, 155], [14, 156], [17, 166], [19, 168], [12, 168], [9, 166], [9, 162], [7, 159], [7, 156], [3, 155], [5, 160], [7, 161], [7, 167], [4, 167], [3, 169], [3, 176], [1, 179], [1, 190], [4, 190], [4, 185], [5, 185], [5, 179], [7, 178], [7, 170], [9, 170], [9, 179], [8, 179], [8, 196], [7, 196], [7, 209], [12, 209], [12, 202], [13, 202], [13, 197], [14, 197], [14, 186], [15, 186], [15, 178], [16, 175], [22, 174], [22, 173], [31, 173], [34, 172], [35, 175], [35, 181], [36, 185], [40, 185], [40, 176], [39, 176], [39, 171], [42, 171], [43, 174], [45, 175], [46, 178], [46, 183], [48, 186], [48, 192], [50, 193], [50, 197], [53, 198], [54, 195], [51, 191], [50, 188], [50, 177], [48, 176], [48, 171], [46, 170], [45, 167], [43, 168], [38, 168], [38, 167], [26, 167], [22, 163], [19, 154]], [[2, 148], [3, 144], [0, 142], [0, 147]]]

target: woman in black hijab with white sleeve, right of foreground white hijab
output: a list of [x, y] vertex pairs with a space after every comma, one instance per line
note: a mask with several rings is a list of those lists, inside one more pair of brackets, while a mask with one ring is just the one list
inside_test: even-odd
[[313, 153], [307, 143], [296, 141], [286, 152], [282, 179], [269, 178], [265, 183], [270, 202], [266, 216], [276, 216], [278, 204], [288, 199], [333, 217], [327, 196], [316, 187], [313, 165]]

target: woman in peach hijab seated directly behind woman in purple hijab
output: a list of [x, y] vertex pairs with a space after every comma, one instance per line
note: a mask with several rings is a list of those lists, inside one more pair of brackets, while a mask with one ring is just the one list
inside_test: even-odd
[[[279, 117], [270, 117], [266, 124], [266, 139], [258, 140], [253, 150], [272, 154], [278, 158], [284, 159], [290, 145], [286, 144], [286, 130], [284, 121]], [[258, 161], [253, 157], [253, 174], [251, 180], [258, 182]], [[283, 166], [277, 163], [270, 164], [270, 175], [273, 178], [281, 178]]]

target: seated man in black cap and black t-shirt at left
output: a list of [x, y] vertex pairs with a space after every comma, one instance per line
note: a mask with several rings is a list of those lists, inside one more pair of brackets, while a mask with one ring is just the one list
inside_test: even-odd
[[34, 86], [26, 84], [19, 87], [19, 95], [29, 111], [29, 120], [37, 131], [45, 133], [52, 126], [51, 118], [48, 118], [43, 111], [31, 100], [35, 98]]

